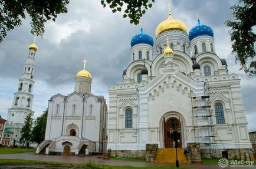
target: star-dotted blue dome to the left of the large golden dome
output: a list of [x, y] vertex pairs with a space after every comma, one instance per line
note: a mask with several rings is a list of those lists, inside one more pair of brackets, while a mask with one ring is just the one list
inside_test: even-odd
[[146, 33], [143, 33], [143, 29], [140, 28], [140, 33], [133, 36], [131, 40], [131, 46], [137, 45], [139, 43], [146, 43], [147, 45], [154, 46], [154, 40], [151, 36], [147, 35]]

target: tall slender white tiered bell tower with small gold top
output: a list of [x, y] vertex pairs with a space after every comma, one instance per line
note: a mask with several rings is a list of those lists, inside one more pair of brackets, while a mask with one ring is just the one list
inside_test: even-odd
[[32, 45], [28, 46], [28, 58], [22, 71], [22, 76], [19, 79], [17, 92], [14, 93], [14, 99], [12, 107], [8, 109], [7, 123], [5, 128], [14, 132], [10, 140], [10, 146], [22, 146], [19, 144], [19, 138], [21, 138], [21, 129], [24, 126], [25, 118], [28, 114], [31, 117], [34, 115], [32, 103], [34, 95], [32, 94], [34, 88], [34, 70], [35, 70], [35, 53], [37, 53], [38, 47], [35, 45], [35, 40]]

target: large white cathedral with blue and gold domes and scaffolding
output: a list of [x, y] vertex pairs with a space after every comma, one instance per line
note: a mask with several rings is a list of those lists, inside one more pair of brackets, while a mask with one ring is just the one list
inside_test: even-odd
[[210, 26], [198, 19], [188, 33], [169, 12], [155, 43], [141, 28], [130, 45], [123, 83], [109, 89], [107, 148], [114, 156], [145, 157], [154, 143], [196, 143], [203, 157], [250, 154], [240, 79], [216, 52]]

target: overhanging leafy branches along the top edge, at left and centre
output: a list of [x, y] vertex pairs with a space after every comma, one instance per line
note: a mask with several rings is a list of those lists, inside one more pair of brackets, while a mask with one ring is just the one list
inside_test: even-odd
[[[84, 0], [86, 1], [86, 0]], [[99, 1], [99, 0], [98, 0]], [[123, 17], [130, 18], [130, 23], [137, 25], [140, 17], [146, 13], [146, 9], [152, 7], [152, 2], [155, 0], [102, 0], [100, 1], [103, 7], [107, 4], [112, 12], [121, 12], [124, 4]], [[0, 0], [0, 43], [11, 31], [17, 26], [20, 26], [21, 19], [26, 18], [25, 12], [31, 18], [31, 33], [33, 35], [42, 36], [44, 34], [44, 24], [48, 20], [55, 21], [60, 13], [67, 13], [67, 5], [70, 0]]]

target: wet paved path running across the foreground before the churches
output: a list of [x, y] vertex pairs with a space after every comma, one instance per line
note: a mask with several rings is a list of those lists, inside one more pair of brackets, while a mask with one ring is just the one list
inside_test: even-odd
[[[175, 163], [150, 163], [146, 161], [128, 161], [128, 160], [103, 160], [101, 156], [86, 156], [86, 157], [78, 157], [78, 156], [46, 156], [46, 155], [38, 155], [34, 153], [22, 153], [22, 154], [0, 154], [0, 159], [20, 159], [20, 160], [38, 160], [38, 161], [57, 161], [57, 162], [65, 162], [65, 163], [80, 163], [86, 164], [88, 161], [91, 161], [95, 164], [104, 164], [104, 165], [120, 165], [120, 166], [134, 166], [134, 167], [148, 167], [148, 166], [172, 166], [175, 167]], [[187, 168], [221, 168], [218, 164], [202, 164], [202, 163], [180, 163], [179, 167], [187, 167]], [[1, 168], [1, 167], [0, 167]], [[256, 168], [256, 165], [252, 167], [225, 167], [237, 169], [237, 168]]]

